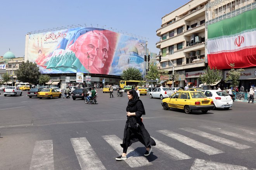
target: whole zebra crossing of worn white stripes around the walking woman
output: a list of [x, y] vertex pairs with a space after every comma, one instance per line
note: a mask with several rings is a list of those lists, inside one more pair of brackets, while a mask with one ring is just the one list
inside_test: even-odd
[[[176, 140], [179, 143], [182, 143], [182, 145], [187, 145], [188, 147], [194, 148], [198, 150], [201, 153], [207, 154], [207, 155], [216, 155], [216, 154], [223, 154], [227, 152], [230, 148], [234, 150], [244, 150], [248, 148], [256, 148], [256, 134], [254, 131], [249, 131], [246, 129], [240, 129], [243, 131], [243, 134], [234, 133], [222, 128], [215, 128], [211, 126], [198, 126], [197, 129], [194, 128], [179, 128], [178, 131], [184, 131], [185, 134], [193, 134], [196, 136], [200, 136], [201, 138], [205, 138], [207, 140], [205, 141], [213, 141], [215, 143], [218, 143], [219, 145], [222, 145], [221, 147], [217, 148], [216, 145], [210, 146], [211, 143], [202, 143], [197, 141], [196, 139], [189, 138], [187, 136], [184, 136], [183, 134], [176, 133], [174, 131], [170, 131], [167, 129], [156, 131], [159, 135], [164, 138], [168, 137], [171, 138], [171, 140]], [[155, 134], [155, 133], [154, 133]], [[216, 134], [219, 134], [216, 135]], [[247, 136], [246, 136], [247, 134]], [[193, 136], [192, 135], [192, 136]], [[220, 137], [222, 136], [222, 137]], [[225, 136], [225, 138], [223, 138]], [[248, 137], [249, 136], [249, 137]], [[173, 161], [178, 160], [187, 160], [187, 159], [193, 159], [195, 162], [193, 163], [190, 170], [196, 170], [196, 169], [204, 169], [202, 167], [202, 162], [206, 162], [204, 160], [200, 160], [194, 157], [194, 155], [191, 155], [192, 152], [183, 153], [182, 151], [179, 151], [179, 148], [174, 148], [172, 146], [172, 143], [164, 143], [161, 141], [161, 139], [155, 138], [154, 136], [151, 136], [156, 141], [156, 146], [152, 146], [153, 152], [155, 152], [155, 155], [159, 154], [165, 154], [168, 155], [168, 159]], [[231, 138], [231, 139], [228, 139]], [[120, 155], [123, 151], [123, 148], [121, 148], [120, 143], [122, 143], [122, 139], [116, 136], [115, 134], [109, 134], [102, 136], [102, 139], [106, 141], [106, 143], [110, 146], [113, 151], [116, 151], [116, 156]], [[234, 140], [237, 139], [237, 140]], [[244, 142], [241, 142], [243, 140]], [[88, 142], [88, 139], [85, 137], [82, 138], [71, 138], [71, 145], [74, 149], [74, 153], [76, 154], [76, 158], [80, 164], [81, 170], [106, 170], [106, 167], [100, 160], [100, 156], [96, 153], [91, 144]], [[166, 141], [166, 140], [165, 140]], [[243, 144], [246, 143], [247, 145]], [[133, 145], [132, 145], [133, 146]], [[138, 153], [134, 148], [129, 147], [127, 151], [127, 160], [124, 162], [127, 163], [128, 166], [131, 168], [136, 167], [143, 167], [143, 166], [150, 166], [154, 164], [154, 161], [149, 162], [147, 158], [144, 156], [144, 153]], [[217, 145], [218, 146], [218, 145]], [[229, 149], [223, 150], [223, 146], [228, 147]], [[31, 164], [30, 164], [30, 170], [54, 170], [54, 151], [53, 151], [54, 145], [52, 140], [43, 140], [43, 141], [36, 141], [32, 158], [31, 158]], [[114, 159], [114, 157], [109, 157], [109, 159]], [[208, 165], [216, 166], [216, 168], [220, 165], [218, 163], [209, 163]], [[213, 164], [213, 165], [212, 165]], [[199, 167], [197, 167], [197, 165]], [[205, 164], [207, 166], [207, 164]], [[231, 165], [221, 165], [221, 167], [230, 167]], [[234, 165], [235, 166], [235, 165]], [[238, 169], [247, 169], [246, 167], [238, 166]], [[233, 167], [234, 170], [236, 169]], [[205, 168], [207, 169], [207, 168]], [[224, 168], [225, 169], [225, 168]]]

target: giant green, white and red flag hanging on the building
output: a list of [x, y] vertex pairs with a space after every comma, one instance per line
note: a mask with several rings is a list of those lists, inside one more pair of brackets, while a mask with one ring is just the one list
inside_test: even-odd
[[256, 66], [256, 9], [209, 25], [207, 51], [211, 68]]

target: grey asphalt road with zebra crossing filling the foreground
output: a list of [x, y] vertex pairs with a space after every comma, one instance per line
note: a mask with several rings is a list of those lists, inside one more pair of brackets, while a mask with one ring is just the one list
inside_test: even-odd
[[1, 170], [238, 170], [256, 169], [256, 104], [234, 102], [207, 114], [163, 110], [141, 95], [144, 125], [157, 145], [145, 157], [137, 142], [122, 148], [127, 95], [98, 90], [96, 105], [77, 99], [0, 95]]

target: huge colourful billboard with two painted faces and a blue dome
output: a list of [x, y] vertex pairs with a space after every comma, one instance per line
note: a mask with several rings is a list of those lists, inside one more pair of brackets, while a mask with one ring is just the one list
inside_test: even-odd
[[25, 58], [41, 73], [121, 75], [143, 71], [145, 41], [98, 28], [72, 28], [27, 35]]

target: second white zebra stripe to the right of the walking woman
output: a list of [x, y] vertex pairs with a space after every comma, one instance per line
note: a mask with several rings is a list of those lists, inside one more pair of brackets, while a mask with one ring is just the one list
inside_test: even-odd
[[219, 153], [224, 153], [223, 151], [221, 150], [218, 150], [216, 148], [213, 148], [209, 145], [206, 145], [204, 143], [201, 143], [201, 142], [198, 142], [198, 141], [195, 141], [194, 139], [190, 139], [186, 136], [183, 136], [181, 134], [178, 134], [178, 133], [175, 133], [173, 131], [169, 131], [169, 130], [160, 130], [160, 131], [157, 131], [161, 134], [164, 134], [170, 138], [173, 138], [173, 139], [176, 139], [186, 145], [189, 145], [191, 146], [192, 148], [195, 148], [199, 151], [202, 151], [203, 153], [206, 153], [207, 155], [215, 155], [215, 154], [219, 154]]

